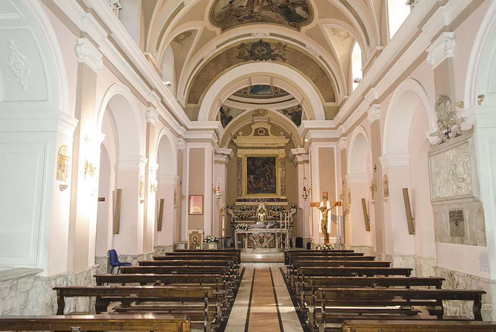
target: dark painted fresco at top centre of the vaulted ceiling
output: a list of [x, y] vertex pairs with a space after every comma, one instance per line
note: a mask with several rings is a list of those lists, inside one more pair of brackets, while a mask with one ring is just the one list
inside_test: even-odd
[[313, 12], [307, 0], [215, 0], [210, 20], [223, 31], [249, 23], [273, 23], [299, 30]]

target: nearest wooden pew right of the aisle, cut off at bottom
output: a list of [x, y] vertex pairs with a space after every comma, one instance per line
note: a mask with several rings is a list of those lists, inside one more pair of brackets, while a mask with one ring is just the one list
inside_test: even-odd
[[496, 322], [346, 320], [343, 332], [491, 332]]

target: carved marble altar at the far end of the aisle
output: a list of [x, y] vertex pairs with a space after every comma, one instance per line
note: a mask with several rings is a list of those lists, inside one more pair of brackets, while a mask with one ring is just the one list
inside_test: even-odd
[[[247, 251], [281, 252], [289, 249], [289, 228], [253, 228], [235, 229], [234, 243], [236, 249]], [[238, 241], [242, 240], [241, 247]]]

